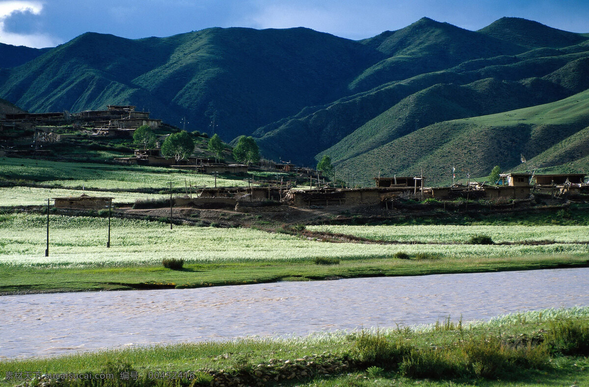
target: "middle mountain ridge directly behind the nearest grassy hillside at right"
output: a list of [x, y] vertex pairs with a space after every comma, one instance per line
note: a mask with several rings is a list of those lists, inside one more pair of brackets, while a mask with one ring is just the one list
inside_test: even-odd
[[[589, 52], [468, 61], [446, 71], [392, 82], [316, 111], [307, 109], [306, 115], [268, 125], [254, 135], [264, 154], [272, 158], [312, 164], [313, 158], [329, 154], [334, 161], [342, 161], [434, 122], [509, 111], [575, 94], [589, 81], [583, 71], [586, 58]], [[435, 85], [437, 89], [429, 89]], [[439, 85], [449, 91], [436, 95]]]

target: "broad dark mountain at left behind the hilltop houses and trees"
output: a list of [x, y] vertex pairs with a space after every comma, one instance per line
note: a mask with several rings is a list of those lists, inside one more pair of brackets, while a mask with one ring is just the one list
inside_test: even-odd
[[[223, 138], [325, 104], [380, 58], [306, 28], [212, 28], [169, 38], [84, 34], [2, 76], [0, 95], [34, 111], [147, 105], [155, 116]], [[1, 79], [0, 79], [1, 81]]]

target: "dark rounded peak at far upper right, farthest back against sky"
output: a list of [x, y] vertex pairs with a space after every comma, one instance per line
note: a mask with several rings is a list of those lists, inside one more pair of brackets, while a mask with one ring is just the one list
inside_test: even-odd
[[478, 32], [527, 48], [562, 48], [587, 40], [587, 36], [522, 18], [501, 18]]

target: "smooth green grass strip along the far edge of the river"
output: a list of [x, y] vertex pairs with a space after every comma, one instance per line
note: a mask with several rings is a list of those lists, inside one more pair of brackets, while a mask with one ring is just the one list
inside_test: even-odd
[[[319, 261], [319, 260], [318, 260]], [[589, 266], [589, 256], [537, 255], [517, 258], [335, 259], [332, 265], [244, 259], [241, 262], [184, 264], [183, 270], [162, 265], [105, 267], [31, 267], [0, 265], [0, 294], [68, 292], [203, 286], [244, 285], [278, 281], [369, 276], [406, 276], [442, 273], [473, 273]]]

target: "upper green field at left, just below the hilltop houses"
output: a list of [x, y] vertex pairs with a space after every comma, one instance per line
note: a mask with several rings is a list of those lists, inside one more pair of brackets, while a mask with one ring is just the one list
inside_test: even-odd
[[[95, 163], [49, 162], [34, 159], [0, 159], [0, 178], [24, 180], [56, 188], [166, 190], [184, 187], [190, 181], [197, 186], [214, 186], [214, 177], [154, 166], [121, 166]], [[245, 179], [217, 178], [217, 186], [247, 186]]]

